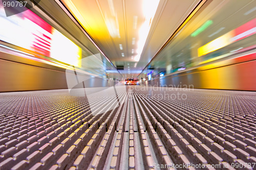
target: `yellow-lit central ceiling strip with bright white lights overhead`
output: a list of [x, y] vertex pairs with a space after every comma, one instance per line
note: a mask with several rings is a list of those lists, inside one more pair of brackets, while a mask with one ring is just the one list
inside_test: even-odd
[[124, 78], [137, 78], [200, 0], [55, 0], [73, 14]]

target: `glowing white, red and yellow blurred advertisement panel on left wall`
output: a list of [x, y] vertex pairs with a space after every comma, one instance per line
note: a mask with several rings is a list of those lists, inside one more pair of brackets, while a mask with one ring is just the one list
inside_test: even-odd
[[0, 6], [0, 40], [81, 67], [82, 50], [30, 10], [6, 17]]

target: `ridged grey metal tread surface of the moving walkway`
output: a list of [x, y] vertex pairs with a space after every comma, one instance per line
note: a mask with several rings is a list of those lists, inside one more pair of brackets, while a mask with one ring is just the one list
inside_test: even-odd
[[89, 103], [63, 89], [0, 93], [0, 169], [256, 169], [255, 94], [133, 86]]

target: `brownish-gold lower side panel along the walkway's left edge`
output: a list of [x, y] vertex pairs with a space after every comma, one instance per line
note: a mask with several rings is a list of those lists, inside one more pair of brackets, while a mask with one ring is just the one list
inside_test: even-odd
[[[2, 53], [0, 53], [2, 55]], [[0, 59], [0, 92], [67, 89], [67, 79], [73, 76], [73, 72], [65, 72], [40, 66], [24, 64]], [[80, 77], [88, 75], [78, 73]], [[74, 80], [75, 81], [75, 80]], [[76, 81], [74, 82], [76, 84]], [[100, 77], [88, 77], [73, 88], [109, 87], [115, 85], [115, 81], [109, 81]]]

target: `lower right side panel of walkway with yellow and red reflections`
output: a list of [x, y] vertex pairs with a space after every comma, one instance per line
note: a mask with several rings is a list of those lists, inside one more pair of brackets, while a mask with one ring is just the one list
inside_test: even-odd
[[[244, 58], [254, 60], [236, 63]], [[175, 88], [204, 88], [225, 90], [250, 90], [256, 91], [256, 53], [241, 56], [240, 58], [223, 61], [225, 65], [215, 64], [188, 70], [179, 74], [155, 78], [143, 82], [143, 85], [165, 86]], [[230, 63], [230, 64], [229, 64]], [[232, 64], [231, 64], [232, 63]]]

